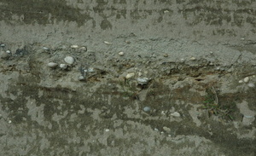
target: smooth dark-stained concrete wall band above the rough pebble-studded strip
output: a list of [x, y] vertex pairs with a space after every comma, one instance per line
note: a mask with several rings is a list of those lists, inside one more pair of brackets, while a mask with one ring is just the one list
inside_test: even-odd
[[1, 0], [0, 10], [1, 31], [25, 26], [19, 35], [35, 30], [88, 38], [133, 32], [230, 42], [253, 39], [256, 32], [255, 0]]

